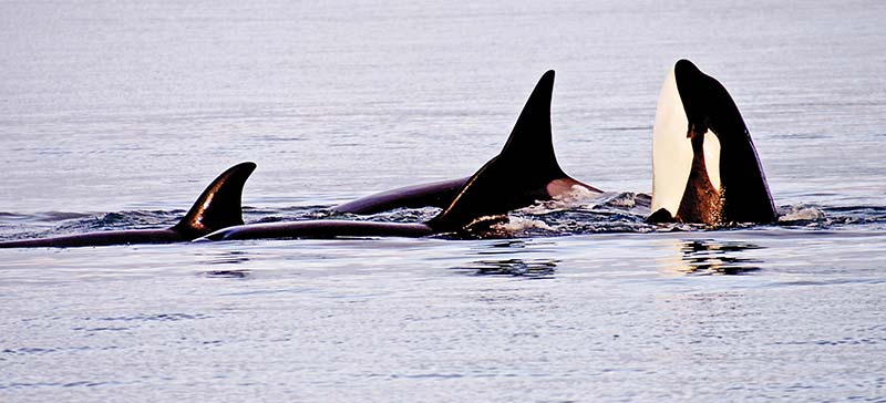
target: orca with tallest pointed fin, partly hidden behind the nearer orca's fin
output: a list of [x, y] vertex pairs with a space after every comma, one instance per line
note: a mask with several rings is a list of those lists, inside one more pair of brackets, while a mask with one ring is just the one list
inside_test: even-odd
[[[601, 190], [583, 184], [566, 175], [557, 163], [550, 134], [550, 93], [554, 87], [554, 71], [548, 71], [523, 106], [514, 130], [501, 154], [494, 159], [496, 184], [492, 186], [521, 189], [508, 202], [513, 208], [528, 206], [535, 202], [563, 197], [577, 186], [593, 193]], [[349, 202], [333, 209], [340, 213], [374, 214], [394, 208], [440, 207], [452, 204], [470, 178], [457, 178], [396, 188]]]

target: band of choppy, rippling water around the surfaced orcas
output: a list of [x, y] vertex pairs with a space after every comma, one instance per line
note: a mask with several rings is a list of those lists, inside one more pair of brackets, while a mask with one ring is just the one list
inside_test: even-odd
[[[484, 221], [482, 230], [468, 237], [525, 238], [606, 232], [707, 231], [744, 228], [800, 228], [804, 230], [886, 228], [884, 206], [815, 206], [807, 204], [779, 207], [779, 221], [767, 225], [738, 224], [711, 228], [704, 225], [646, 223], [651, 197], [642, 193], [608, 193], [599, 197], [550, 200], [513, 211], [508, 219]], [[337, 213], [331, 206], [286, 208], [244, 207], [246, 223], [274, 223], [308, 219], [352, 219], [388, 223], [426, 221], [437, 208], [398, 209], [371, 216]], [[184, 210], [126, 210], [114, 213], [45, 211], [18, 214], [0, 211], [0, 239], [50, 237], [99, 230], [169, 227]]]

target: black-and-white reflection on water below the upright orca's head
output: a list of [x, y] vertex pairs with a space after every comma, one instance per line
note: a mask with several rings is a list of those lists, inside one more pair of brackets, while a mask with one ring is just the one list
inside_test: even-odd
[[679, 250], [679, 258], [666, 264], [669, 270], [686, 275], [743, 275], [760, 270], [762, 261], [743, 257], [746, 250], [762, 249], [762, 247], [741, 241], [723, 241], [715, 239], [687, 239], [676, 241], [674, 249]]

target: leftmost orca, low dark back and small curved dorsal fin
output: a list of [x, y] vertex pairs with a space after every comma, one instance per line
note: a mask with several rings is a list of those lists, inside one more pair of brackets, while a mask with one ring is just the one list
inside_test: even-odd
[[235, 165], [203, 190], [178, 224], [166, 229], [100, 231], [54, 238], [0, 242], [0, 248], [82, 247], [127, 244], [168, 244], [193, 240], [215, 230], [243, 224], [240, 198], [246, 179], [256, 164]]

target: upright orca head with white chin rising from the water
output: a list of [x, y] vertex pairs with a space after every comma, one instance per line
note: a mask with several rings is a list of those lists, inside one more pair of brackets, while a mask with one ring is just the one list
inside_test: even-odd
[[652, 138], [651, 223], [776, 219], [756, 148], [725, 87], [688, 60], [661, 89]]

